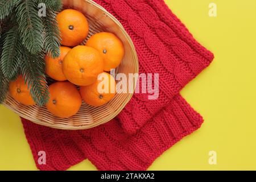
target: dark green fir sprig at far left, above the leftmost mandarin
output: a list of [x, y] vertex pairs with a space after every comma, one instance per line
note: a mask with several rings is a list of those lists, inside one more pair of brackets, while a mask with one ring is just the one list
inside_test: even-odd
[[11, 28], [5, 35], [1, 56], [1, 70], [5, 77], [13, 80], [18, 76], [19, 64], [22, 59], [22, 44], [17, 27]]

